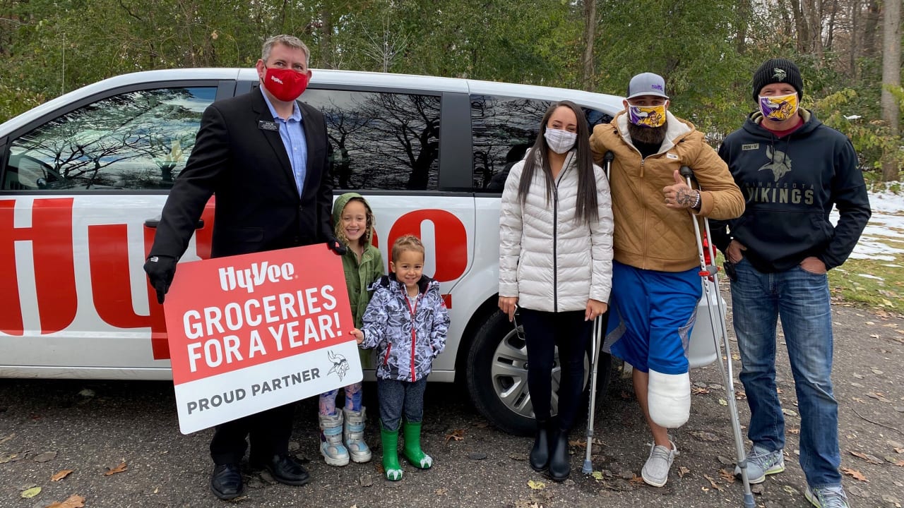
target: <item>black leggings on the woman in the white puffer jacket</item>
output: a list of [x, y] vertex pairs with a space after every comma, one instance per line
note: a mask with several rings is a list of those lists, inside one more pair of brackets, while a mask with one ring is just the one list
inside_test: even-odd
[[531, 392], [533, 414], [550, 419], [552, 359], [559, 347], [559, 426], [568, 431], [574, 425], [584, 381], [584, 354], [593, 321], [584, 321], [584, 311], [542, 312], [522, 308], [524, 340], [527, 342], [527, 388]]

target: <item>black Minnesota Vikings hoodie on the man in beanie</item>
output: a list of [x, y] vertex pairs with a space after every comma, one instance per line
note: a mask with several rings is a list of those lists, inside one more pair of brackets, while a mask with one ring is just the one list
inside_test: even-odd
[[[801, 108], [800, 115], [802, 127], [776, 137], [760, 126], [763, 116], [756, 111], [719, 147], [747, 208], [737, 219], [713, 221], [713, 242], [724, 252], [731, 239], [738, 240], [760, 272], [793, 268], [810, 256], [826, 269], [837, 267], [870, 219], [851, 141], [810, 111]], [[829, 221], [833, 205], [841, 215], [837, 226]]]

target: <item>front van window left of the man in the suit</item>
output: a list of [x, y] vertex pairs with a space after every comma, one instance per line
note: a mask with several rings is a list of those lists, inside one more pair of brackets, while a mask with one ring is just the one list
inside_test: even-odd
[[11, 141], [4, 190], [168, 189], [191, 155], [216, 87], [101, 99]]

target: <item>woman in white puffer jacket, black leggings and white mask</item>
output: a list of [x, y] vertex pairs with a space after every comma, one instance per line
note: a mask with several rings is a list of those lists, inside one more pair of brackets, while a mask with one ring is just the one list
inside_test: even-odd
[[[587, 120], [574, 103], [558, 102], [543, 116], [531, 151], [505, 181], [499, 226], [499, 308], [511, 320], [520, 307], [527, 342], [537, 419], [530, 462], [562, 481], [570, 473], [568, 432], [583, 388], [584, 352], [612, 287], [609, 186], [593, 164]], [[559, 420], [552, 422], [556, 346]]]

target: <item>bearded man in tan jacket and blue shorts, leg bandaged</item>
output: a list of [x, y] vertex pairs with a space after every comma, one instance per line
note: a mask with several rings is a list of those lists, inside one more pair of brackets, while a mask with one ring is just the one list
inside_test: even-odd
[[[635, 394], [654, 439], [641, 476], [663, 486], [678, 451], [668, 429], [681, 427], [690, 414], [687, 348], [702, 295], [688, 212], [732, 219], [744, 211], [744, 197], [702, 133], [668, 111], [662, 77], [636, 75], [623, 104], [625, 111], [590, 136], [598, 163], [607, 151], [615, 155], [606, 349], [634, 367]], [[683, 165], [694, 170], [702, 190], [684, 182]]]

